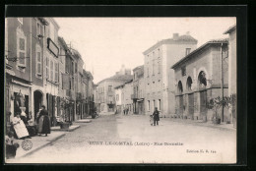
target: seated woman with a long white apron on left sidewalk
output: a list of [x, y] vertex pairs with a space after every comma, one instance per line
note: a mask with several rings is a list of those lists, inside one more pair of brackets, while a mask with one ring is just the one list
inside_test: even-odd
[[11, 120], [12, 130], [14, 130], [18, 139], [31, 139], [30, 134], [21, 119], [20, 113], [16, 113], [16, 116]]

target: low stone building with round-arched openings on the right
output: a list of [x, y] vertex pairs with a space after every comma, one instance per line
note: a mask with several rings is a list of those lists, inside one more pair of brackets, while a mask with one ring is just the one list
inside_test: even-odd
[[[227, 95], [227, 39], [210, 40], [175, 63], [175, 114], [191, 119], [212, 119], [207, 109], [211, 98], [222, 95], [222, 53], [224, 95]], [[229, 119], [224, 113], [224, 121]]]

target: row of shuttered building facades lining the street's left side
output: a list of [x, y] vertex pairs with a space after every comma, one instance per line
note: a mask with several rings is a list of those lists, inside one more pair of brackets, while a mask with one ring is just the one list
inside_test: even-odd
[[[76, 97], [84, 90], [84, 62], [78, 52], [71, 51], [65, 40], [58, 37], [58, 29], [52, 18], [5, 20], [7, 125], [21, 110], [25, 110], [33, 125], [42, 104], [48, 110], [51, 126], [61, 116], [71, 122], [79, 118], [76, 109], [81, 106], [76, 106], [76, 101], [80, 101]], [[93, 77], [89, 74], [87, 78], [90, 89], [86, 90], [92, 101]]]

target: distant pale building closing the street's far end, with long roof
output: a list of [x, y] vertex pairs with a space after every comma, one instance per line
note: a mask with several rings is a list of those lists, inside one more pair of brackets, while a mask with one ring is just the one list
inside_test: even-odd
[[[114, 87], [122, 85], [127, 81], [132, 80], [132, 75], [116, 74], [110, 78], [100, 81], [96, 86], [96, 106], [100, 113], [113, 113], [116, 110], [115, 106], [115, 91]], [[98, 110], [98, 109], [97, 109]]]

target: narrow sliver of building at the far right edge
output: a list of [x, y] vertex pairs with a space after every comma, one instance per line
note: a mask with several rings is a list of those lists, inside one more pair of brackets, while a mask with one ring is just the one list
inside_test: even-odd
[[[224, 31], [224, 34], [229, 35], [228, 42], [228, 95], [236, 97], [236, 86], [237, 86], [237, 78], [236, 78], [236, 25], [228, 28]], [[236, 103], [236, 102], [235, 102]], [[236, 128], [236, 105], [231, 109], [232, 114], [232, 122], [234, 127]]]

